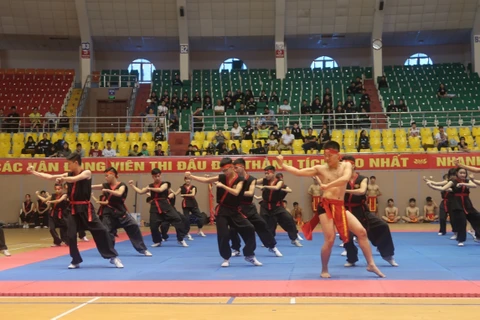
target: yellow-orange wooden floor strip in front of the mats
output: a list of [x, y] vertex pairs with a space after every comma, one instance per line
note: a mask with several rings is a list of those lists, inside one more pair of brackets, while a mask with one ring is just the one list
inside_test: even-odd
[[1, 298], [0, 319], [451, 320], [480, 312], [478, 299]]

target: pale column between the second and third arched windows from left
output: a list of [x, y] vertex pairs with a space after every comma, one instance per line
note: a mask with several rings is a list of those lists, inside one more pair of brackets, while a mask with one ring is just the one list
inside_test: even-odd
[[287, 46], [285, 44], [285, 0], [275, 0], [275, 68], [277, 79], [287, 74]]

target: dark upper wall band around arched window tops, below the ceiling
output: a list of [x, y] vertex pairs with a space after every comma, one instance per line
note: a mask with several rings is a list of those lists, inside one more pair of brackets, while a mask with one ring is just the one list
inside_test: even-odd
[[[405, 46], [385, 47], [384, 65], [403, 65], [412, 54], [422, 52], [429, 55], [434, 63], [471, 61], [470, 45]], [[288, 67], [304, 68], [322, 55], [331, 56], [340, 66], [371, 66], [369, 48], [343, 48], [319, 50], [289, 50]], [[227, 58], [236, 57], [245, 61], [249, 68], [275, 68], [273, 50], [270, 51], [208, 51], [191, 52], [190, 68], [215, 69]], [[95, 52], [95, 65], [101, 69], [126, 69], [135, 59], [144, 58], [154, 63], [157, 69], [178, 69], [177, 52]], [[0, 51], [2, 68], [70, 68], [79, 74], [77, 51]]]

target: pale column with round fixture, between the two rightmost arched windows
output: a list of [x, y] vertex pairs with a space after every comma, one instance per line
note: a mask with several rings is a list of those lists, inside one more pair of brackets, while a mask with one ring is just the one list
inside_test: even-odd
[[377, 77], [383, 75], [383, 20], [384, 20], [384, 6], [386, 0], [375, 1], [375, 12], [373, 14], [373, 30], [370, 50], [372, 50], [372, 65], [373, 65], [373, 79], [376, 83]]

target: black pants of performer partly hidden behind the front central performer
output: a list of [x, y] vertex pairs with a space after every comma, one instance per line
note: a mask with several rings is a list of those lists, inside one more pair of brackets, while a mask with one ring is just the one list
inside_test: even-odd
[[[272, 249], [277, 245], [275, 237], [268, 231], [267, 223], [258, 214], [257, 207], [255, 205], [242, 206], [242, 212], [247, 217], [248, 221], [253, 224], [255, 232], [262, 241], [266, 248]], [[241, 241], [238, 236], [237, 229], [230, 228], [230, 239], [232, 240], [232, 249], [240, 251]]]

